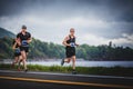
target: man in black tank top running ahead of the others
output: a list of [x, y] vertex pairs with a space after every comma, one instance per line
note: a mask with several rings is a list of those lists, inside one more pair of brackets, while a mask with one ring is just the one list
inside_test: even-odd
[[75, 75], [75, 47], [78, 47], [79, 44], [75, 43], [75, 36], [74, 36], [74, 29], [71, 28], [70, 29], [70, 34], [68, 37], [64, 38], [63, 42], [65, 46], [65, 55], [66, 58], [62, 59], [61, 61], [61, 66], [63, 66], [64, 62], [70, 62], [72, 60], [72, 73]]

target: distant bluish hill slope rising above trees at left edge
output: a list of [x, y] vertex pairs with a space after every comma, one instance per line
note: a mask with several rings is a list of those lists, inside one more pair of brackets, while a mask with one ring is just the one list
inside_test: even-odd
[[0, 27], [0, 38], [3, 37], [16, 38], [16, 34]]

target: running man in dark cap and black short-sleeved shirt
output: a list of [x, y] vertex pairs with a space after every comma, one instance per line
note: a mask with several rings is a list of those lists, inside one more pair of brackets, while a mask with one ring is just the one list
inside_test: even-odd
[[24, 66], [24, 71], [28, 71], [27, 68], [27, 56], [29, 52], [29, 43], [31, 42], [31, 34], [30, 32], [27, 32], [27, 27], [22, 26], [22, 31], [17, 34], [17, 38], [20, 39], [20, 51], [22, 56], [22, 62]]

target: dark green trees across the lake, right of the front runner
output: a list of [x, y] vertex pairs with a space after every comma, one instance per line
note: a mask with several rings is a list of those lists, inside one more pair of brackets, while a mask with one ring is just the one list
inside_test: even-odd
[[98, 47], [82, 44], [78, 48], [76, 56], [89, 60], [133, 60], [133, 49], [106, 44]]

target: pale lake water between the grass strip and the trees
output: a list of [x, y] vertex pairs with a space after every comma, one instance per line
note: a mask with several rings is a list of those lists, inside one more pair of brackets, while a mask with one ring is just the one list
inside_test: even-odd
[[[41, 65], [41, 66], [61, 66], [61, 61], [29, 61], [29, 65]], [[64, 66], [71, 66], [70, 63], [64, 63]], [[76, 67], [133, 67], [133, 61], [76, 61]]]

